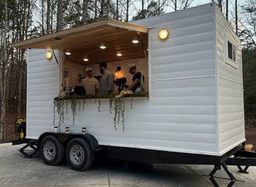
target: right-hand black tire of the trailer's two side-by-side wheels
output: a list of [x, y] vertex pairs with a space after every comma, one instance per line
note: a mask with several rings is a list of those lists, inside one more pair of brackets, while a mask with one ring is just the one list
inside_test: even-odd
[[72, 139], [66, 146], [66, 161], [70, 168], [84, 171], [90, 168], [94, 161], [94, 153], [86, 139]]

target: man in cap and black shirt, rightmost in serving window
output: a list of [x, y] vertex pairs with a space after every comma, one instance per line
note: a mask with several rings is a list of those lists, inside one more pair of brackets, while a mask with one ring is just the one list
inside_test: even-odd
[[133, 75], [133, 83], [130, 86], [126, 87], [126, 90], [132, 90], [133, 92], [143, 91], [144, 90], [144, 76], [141, 72], [137, 71], [136, 65], [133, 63], [127, 65], [127, 69], [130, 74]]

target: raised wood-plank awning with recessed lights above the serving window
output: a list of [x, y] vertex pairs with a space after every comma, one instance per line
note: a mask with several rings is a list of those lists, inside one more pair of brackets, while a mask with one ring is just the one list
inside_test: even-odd
[[[66, 60], [82, 65], [99, 62], [116, 62], [148, 57], [148, 28], [114, 19], [103, 19], [72, 29], [62, 30], [13, 43], [13, 48], [41, 48], [48, 50], [69, 50]], [[139, 41], [133, 44], [132, 40]], [[100, 45], [104, 44], [103, 50]], [[116, 53], [122, 53], [117, 56]], [[89, 59], [84, 62], [84, 56]]]

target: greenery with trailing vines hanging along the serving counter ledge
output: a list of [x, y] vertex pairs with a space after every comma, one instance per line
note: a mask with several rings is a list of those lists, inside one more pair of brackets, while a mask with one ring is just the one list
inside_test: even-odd
[[[75, 118], [76, 118], [76, 109], [77, 104], [79, 104], [79, 110], [85, 110], [85, 105], [87, 100], [94, 99], [94, 103], [98, 101], [98, 111], [101, 111], [101, 99], [108, 99], [109, 101], [109, 112], [112, 113], [114, 111], [114, 128], [119, 122], [122, 120], [123, 124], [123, 132], [125, 130], [125, 119], [124, 119], [124, 112], [125, 112], [125, 97], [130, 97], [130, 108], [133, 109], [133, 97], [149, 97], [148, 92], [141, 91], [134, 94], [124, 94], [120, 96], [119, 94], [97, 94], [97, 95], [70, 95], [67, 97], [55, 97], [54, 98], [54, 116], [53, 116], [53, 125], [55, 126], [56, 120], [56, 113], [59, 115], [59, 127], [61, 123], [64, 123], [64, 107], [66, 106], [66, 114], [68, 114], [68, 103], [70, 103], [70, 108], [73, 114], [73, 125], [75, 125]], [[83, 106], [83, 107], [82, 107]], [[122, 119], [121, 119], [122, 118]]]

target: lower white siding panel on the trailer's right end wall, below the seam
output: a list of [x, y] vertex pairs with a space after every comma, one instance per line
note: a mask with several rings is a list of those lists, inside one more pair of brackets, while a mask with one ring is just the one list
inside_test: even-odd
[[244, 101], [242, 85], [219, 78], [220, 150], [244, 141]]

